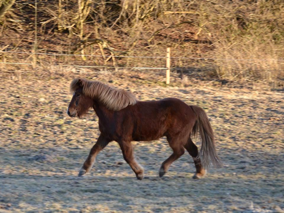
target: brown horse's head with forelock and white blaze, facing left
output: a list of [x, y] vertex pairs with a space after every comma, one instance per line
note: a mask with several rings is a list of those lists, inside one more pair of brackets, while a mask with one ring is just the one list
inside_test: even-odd
[[70, 85], [70, 91], [73, 93], [69, 103], [67, 114], [70, 117], [83, 117], [89, 108], [93, 105], [93, 100], [83, 93], [83, 80], [74, 79]]

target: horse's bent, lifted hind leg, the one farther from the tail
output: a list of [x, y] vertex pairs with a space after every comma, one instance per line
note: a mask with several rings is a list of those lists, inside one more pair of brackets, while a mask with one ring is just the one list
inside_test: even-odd
[[167, 140], [169, 142], [170, 147], [173, 150], [173, 153], [171, 154], [171, 156], [169, 158], [167, 158], [167, 160], [165, 160], [162, 163], [162, 166], [160, 167], [160, 170], [159, 170], [159, 176], [160, 177], [162, 177], [168, 171], [172, 162], [174, 162], [181, 155], [184, 154], [184, 148], [183, 148], [183, 145], [182, 145], [182, 141], [179, 141], [179, 140], [173, 141], [168, 137], [167, 137]]

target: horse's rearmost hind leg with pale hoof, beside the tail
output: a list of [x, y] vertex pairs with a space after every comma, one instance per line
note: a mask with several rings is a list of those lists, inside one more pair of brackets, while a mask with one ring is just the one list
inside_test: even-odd
[[202, 176], [206, 174], [206, 170], [202, 167], [200, 159], [195, 159], [196, 156], [198, 155], [198, 148], [197, 146], [192, 142], [191, 138], [188, 138], [187, 143], [184, 145], [184, 148], [188, 151], [188, 153], [192, 156], [195, 168], [196, 168], [196, 173], [192, 177], [193, 179], [199, 179]]

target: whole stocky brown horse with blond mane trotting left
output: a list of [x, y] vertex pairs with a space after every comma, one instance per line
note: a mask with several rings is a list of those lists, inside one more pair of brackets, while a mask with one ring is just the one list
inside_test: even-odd
[[[131, 141], [151, 141], [166, 136], [173, 150], [162, 163], [159, 176], [162, 177], [172, 162], [184, 153], [193, 157], [196, 173], [194, 179], [206, 174], [210, 162], [221, 166], [217, 155], [213, 130], [203, 109], [188, 106], [180, 99], [166, 98], [159, 101], [138, 101], [127, 91], [115, 89], [100, 81], [77, 78], [70, 84], [73, 97], [67, 109], [70, 117], [82, 117], [93, 108], [99, 117], [98, 141], [91, 149], [79, 171], [79, 176], [91, 170], [96, 155], [111, 141], [120, 145], [125, 161], [141, 180], [143, 168], [136, 162]], [[201, 149], [198, 153], [191, 135], [199, 135]]]

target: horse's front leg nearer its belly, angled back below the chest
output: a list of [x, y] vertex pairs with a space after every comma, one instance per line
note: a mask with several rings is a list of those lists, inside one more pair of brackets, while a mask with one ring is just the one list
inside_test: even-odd
[[144, 170], [143, 168], [136, 162], [131, 142], [119, 142], [123, 158], [135, 172], [135, 175], [138, 180], [142, 180], [144, 177]]

